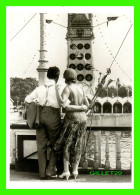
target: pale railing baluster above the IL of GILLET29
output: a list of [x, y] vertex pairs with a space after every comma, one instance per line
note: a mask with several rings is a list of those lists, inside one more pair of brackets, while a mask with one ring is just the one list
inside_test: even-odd
[[95, 146], [94, 146], [94, 169], [99, 168], [99, 146], [98, 146], [98, 131], [94, 132]]

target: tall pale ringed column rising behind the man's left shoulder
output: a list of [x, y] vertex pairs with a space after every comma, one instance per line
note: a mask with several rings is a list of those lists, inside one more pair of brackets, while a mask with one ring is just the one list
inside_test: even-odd
[[45, 14], [40, 13], [40, 59], [38, 71], [39, 86], [46, 83], [47, 75], [46, 21]]

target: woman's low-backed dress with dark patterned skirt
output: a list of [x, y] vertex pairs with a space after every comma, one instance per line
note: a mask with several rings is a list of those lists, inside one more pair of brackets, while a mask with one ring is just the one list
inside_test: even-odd
[[[72, 89], [70, 89], [69, 100], [71, 105], [83, 105], [83, 97], [75, 98]], [[81, 158], [83, 136], [86, 132], [86, 114], [85, 112], [66, 111], [63, 129], [60, 137], [54, 145], [54, 150], [59, 156], [77, 163]]]

